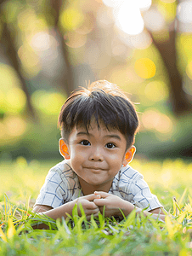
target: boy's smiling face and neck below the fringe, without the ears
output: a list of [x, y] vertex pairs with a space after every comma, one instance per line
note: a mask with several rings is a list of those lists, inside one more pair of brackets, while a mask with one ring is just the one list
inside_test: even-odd
[[81, 125], [74, 127], [67, 143], [69, 156], [65, 158], [70, 159], [82, 191], [87, 186], [108, 192], [122, 164], [127, 164], [124, 135], [118, 130], [108, 131], [102, 123], [99, 126], [93, 120], [88, 131]]

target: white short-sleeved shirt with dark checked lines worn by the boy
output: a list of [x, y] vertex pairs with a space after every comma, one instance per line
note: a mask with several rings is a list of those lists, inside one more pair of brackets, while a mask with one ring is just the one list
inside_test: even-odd
[[[121, 167], [113, 179], [109, 193], [133, 203], [136, 207], [147, 208], [147, 211], [162, 207], [156, 195], [151, 194], [143, 175], [129, 165]], [[63, 160], [48, 172], [36, 205], [56, 208], [79, 196], [83, 194], [78, 177], [67, 160]]]

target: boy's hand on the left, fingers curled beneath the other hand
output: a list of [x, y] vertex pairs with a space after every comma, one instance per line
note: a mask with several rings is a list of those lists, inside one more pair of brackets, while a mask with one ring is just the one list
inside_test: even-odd
[[[100, 195], [91, 194], [91, 195], [84, 195], [76, 199], [77, 206], [79, 206], [80, 203], [82, 204], [82, 208], [88, 220], [90, 220], [92, 214], [93, 216], [98, 217], [99, 207], [96, 206], [93, 200], [99, 199], [99, 198], [100, 198]], [[81, 216], [82, 213], [81, 213], [80, 207], [77, 207], [77, 209], [78, 209], [79, 216]]]

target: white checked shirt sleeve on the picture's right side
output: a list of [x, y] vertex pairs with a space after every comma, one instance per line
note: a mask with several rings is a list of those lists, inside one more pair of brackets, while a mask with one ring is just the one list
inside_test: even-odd
[[146, 208], [147, 211], [163, 207], [158, 201], [156, 195], [153, 195], [150, 192], [150, 188], [144, 181], [142, 175], [139, 175], [138, 179], [131, 184], [130, 189], [133, 194], [133, 199], [131, 202], [136, 207], [143, 209]]

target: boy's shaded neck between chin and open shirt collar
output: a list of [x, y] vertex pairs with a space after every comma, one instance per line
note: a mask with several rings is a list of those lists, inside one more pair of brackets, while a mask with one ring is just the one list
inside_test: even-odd
[[81, 177], [78, 177], [78, 179], [79, 179], [79, 183], [82, 187], [83, 195], [93, 194], [94, 191], [104, 191], [104, 192], [108, 193], [110, 190], [110, 187], [112, 185], [112, 181], [111, 181], [111, 183], [93, 186], [92, 184], [85, 182]]

